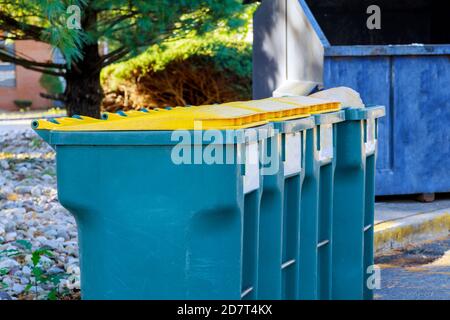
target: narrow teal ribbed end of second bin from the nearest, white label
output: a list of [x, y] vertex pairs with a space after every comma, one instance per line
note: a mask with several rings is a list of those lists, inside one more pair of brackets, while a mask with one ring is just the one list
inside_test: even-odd
[[300, 190], [313, 117], [274, 122], [265, 141], [259, 223], [259, 299], [297, 299]]

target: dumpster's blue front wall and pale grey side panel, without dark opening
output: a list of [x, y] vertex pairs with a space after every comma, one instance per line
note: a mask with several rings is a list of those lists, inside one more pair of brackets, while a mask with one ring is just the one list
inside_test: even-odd
[[284, 81], [351, 87], [386, 106], [376, 195], [450, 192], [450, 44], [333, 45], [305, 0], [265, 0], [254, 18], [255, 99]]

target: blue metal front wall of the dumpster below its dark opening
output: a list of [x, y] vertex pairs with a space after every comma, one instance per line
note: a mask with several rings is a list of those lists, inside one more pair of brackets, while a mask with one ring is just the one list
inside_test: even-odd
[[450, 191], [450, 45], [330, 47], [324, 84], [386, 105], [377, 195]]

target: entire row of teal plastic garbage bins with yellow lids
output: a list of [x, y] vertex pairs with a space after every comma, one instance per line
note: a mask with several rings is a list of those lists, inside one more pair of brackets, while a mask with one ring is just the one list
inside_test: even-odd
[[284, 97], [34, 121], [83, 299], [371, 299], [383, 115]]

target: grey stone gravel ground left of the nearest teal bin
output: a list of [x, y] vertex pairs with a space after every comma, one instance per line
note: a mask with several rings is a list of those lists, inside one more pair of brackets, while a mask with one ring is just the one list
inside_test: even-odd
[[32, 130], [0, 132], [0, 299], [77, 299], [77, 229], [58, 203], [55, 154]]

